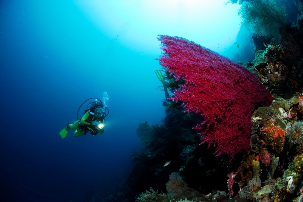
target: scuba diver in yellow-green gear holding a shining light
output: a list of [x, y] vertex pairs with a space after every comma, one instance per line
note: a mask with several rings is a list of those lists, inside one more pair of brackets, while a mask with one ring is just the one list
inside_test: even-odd
[[[88, 105], [92, 104], [88, 109], [88, 105], [86, 107], [85, 113], [81, 119], [78, 119], [78, 113], [82, 105], [90, 99], [95, 99], [93, 102], [88, 103]], [[60, 136], [64, 139], [68, 133], [69, 129], [76, 130], [74, 133], [75, 137], [79, 137], [82, 135], [86, 135], [86, 133], [90, 132], [93, 136], [98, 133], [102, 134], [104, 132], [104, 120], [108, 115], [108, 108], [105, 104], [98, 98], [89, 98], [84, 101], [77, 112], [77, 121], [74, 124], [68, 123], [65, 128], [60, 131]]]

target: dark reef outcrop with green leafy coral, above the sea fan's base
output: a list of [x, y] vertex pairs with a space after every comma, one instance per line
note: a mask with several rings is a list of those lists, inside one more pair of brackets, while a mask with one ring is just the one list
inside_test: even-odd
[[[268, 47], [256, 52], [256, 59], [253, 61], [255, 69], [258, 70], [259, 78], [269, 90], [271, 95], [278, 95], [289, 98], [300, 90], [303, 82], [302, 61], [300, 52], [296, 56], [289, 57], [288, 49], [281, 45]], [[297, 58], [296, 60], [293, 60]], [[294, 61], [298, 61], [295, 63]]]

